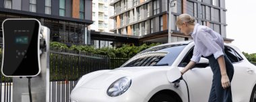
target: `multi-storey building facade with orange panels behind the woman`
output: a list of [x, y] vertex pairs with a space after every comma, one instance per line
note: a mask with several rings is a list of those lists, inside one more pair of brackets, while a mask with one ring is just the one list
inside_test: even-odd
[[[226, 38], [226, 11], [224, 0], [176, 0], [172, 7], [171, 30], [172, 42], [192, 40], [179, 32], [175, 25], [177, 16], [188, 13], [195, 17], [195, 22], [207, 25]], [[111, 32], [116, 35], [135, 36], [137, 43], [168, 42], [168, 0], [113, 0], [114, 21]], [[115, 36], [115, 35], [113, 35]]]

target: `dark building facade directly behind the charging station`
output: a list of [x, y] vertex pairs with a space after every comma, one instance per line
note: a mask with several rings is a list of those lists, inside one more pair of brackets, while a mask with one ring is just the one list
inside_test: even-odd
[[92, 0], [0, 0], [0, 23], [7, 18], [38, 19], [50, 28], [51, 41], [90, 44]]

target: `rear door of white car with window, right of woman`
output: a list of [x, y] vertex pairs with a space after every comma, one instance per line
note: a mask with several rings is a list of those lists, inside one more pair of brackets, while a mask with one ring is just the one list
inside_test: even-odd
[[232, 98], [234, 101], [249, 101], [254, 87], [255, 72], [250, 71], [247, 60], [244, 60], [233, 48], [225, 46], [225, 53], [234, 66], [234, 76], [231, 82]]

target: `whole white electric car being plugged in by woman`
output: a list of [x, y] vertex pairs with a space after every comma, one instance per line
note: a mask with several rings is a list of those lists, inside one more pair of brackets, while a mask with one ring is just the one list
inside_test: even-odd
[[[188, 64], [193, 55], [193, 47], [193, 41], [162, 44], [143, 50], [120, 68], [86, 74], [73, 88], [71, 101], [208, 101], [212, 86], [212, 70], [206, 58], [201, 57], [194, 68], [183, 74], [185, 81], [170, 81]], [[231, 83], [233, 101], [256, 102], [256, 66], [251, 64], [235, 46], [225, 44], [224, 52], [234, 65]]]

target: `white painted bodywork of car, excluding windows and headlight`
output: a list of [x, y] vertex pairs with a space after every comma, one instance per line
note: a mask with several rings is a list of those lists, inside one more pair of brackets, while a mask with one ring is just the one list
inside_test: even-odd
[[[184, 41], [160, 46], [174, 44], [187, 44], [187, 46], [183, 48], [172, 64], [168, 66], [121, 66], [114, 70], [91, 72], [79, 79], [77, 85], [71, 92], [71, 101], [148, 102], [156, 93], [162, 92], [172, 93], [174, 97], [179, 97], [181, 101], [188, 101], [187, 87], [184, 81], [179, 83], [180, 87], [175, 88], [174, 84], [168, 81], [167, 72], [172, 68], [179, 68], [179, 70], [184, 68], [179, 66], [179, 64], [193, 48], [194, 43], [192, 41]], [[256, 84], [256, 66], [251, 64], [235, 46], [230, 44], [225, 44], [225, 46], [232, 48], [243, 58], [243, 60], [233, 63], [234, 77], [231, 83], [232, 99], [234, 102], [248, 102], [250, 101], [253, 87]], [[203, 61], [205, 59], [201, 58], [200, 62]], [[129, 89], [117, 97], [108, 96], [106, 94], [108, 87], [121, 77], [131, 78], [132, 83]], [[189, 87], [190, 101], [208, 101], [212, 86], [212, 70], [210, 66], [192, 68], [183, 75], [183, 78], [187, 81]]]

